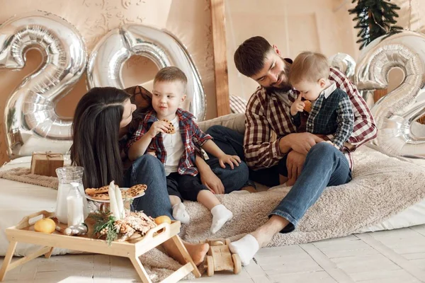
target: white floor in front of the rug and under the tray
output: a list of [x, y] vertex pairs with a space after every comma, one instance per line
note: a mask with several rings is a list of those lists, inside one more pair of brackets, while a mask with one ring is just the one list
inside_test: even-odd
[[[3, 258], [0, 258], [0, 262]], [[4, 282], [138, 282], [130, 260], [108, 255], [38, 258]], [[263, 248], [239, 275], [216, 273], [192, 282], [425, 282], [425, 225], [280, 248]]]

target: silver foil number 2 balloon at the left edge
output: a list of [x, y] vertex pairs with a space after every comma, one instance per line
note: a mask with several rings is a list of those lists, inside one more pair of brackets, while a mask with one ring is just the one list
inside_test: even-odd
[[55, 105], [86, 68], [82, 37], [73, 25], [52, 13], [24, 13], [0, 25], [0, 69], [22, 69], [30, 49], [41, 52], [42, 64], [13, 91], [4, 114], [11, 158], [69, 149], [72, 120], [58, 116]]

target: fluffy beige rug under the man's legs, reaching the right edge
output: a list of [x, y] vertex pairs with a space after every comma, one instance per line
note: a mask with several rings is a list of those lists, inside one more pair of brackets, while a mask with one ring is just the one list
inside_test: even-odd
[[[268, 246], [285, 246], [319, 241], [356, 233], [378, 224], [425, 198], [425, 168], [388, 157], [363, 146], [354, 154], [353, 180], [328, 187], [292, 233], [278, 234]], [[289, 187], [277, 187], [255, 194], [232, 193], [219, 196], [234, 217], [217, 234], [210, 233], [211, 215], [203, 205], [186, 202], [191, 224], [183, 225], [181, 238], [197, 242], [205, 238], [236, 240], [254, 231], [282, 200]], [[155, 281], [164, 279], [180, 265], [159, 250], [142, 257]], [[193, 278], [192, 275], [191, 277]]]

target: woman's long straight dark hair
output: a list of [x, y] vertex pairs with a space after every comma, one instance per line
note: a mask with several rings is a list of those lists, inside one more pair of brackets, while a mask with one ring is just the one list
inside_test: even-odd
[[74, 114], [71, 161], [84, 167], [84, 187], [102, 187], [112, 180], [123, 185], [123, 162], [118, 144], [125, 100], [130, 95], [112, 87], [92, 88]]

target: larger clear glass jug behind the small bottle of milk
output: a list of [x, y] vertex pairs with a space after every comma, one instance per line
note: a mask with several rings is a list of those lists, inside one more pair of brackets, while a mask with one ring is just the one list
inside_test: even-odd
[[[85, 192], [83, 187], [83, 173], [84, 168], [79, 166], [67, 166], [56, 169], [57, 178], [59, 179], [59, 186], [57, 187], [55, 214], [60, 223], [68, 223], [67, 196], [69, 194], [69, 190], [72, 190], [74, 186], [78, 186], [78, 190], [83, 197], [84, 219], [86, 219], [88, 216], [87, 200], [86, 197], [84, 197]], [[77, 185], [73, 183], [77, 183]]]

